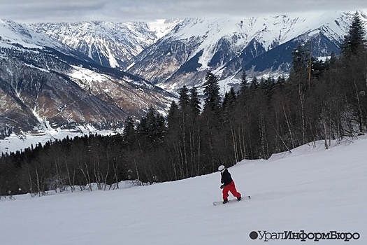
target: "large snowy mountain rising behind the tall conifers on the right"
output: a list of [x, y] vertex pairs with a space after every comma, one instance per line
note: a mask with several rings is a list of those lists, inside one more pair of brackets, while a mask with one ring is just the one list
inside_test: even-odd
[[[367, 15], [361, 14], [367, 23]], [[168, 90], [200, 84], [208, 69], [220, 79], [288, 72], [296, 44], [311, 40], [316, 57], [338, 53], [354, 13], [186, 19], [134, 58], [128, 70]]]

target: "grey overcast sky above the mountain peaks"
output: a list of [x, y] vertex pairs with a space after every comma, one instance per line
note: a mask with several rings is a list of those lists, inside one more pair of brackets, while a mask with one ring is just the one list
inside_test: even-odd
[[112, 22], [363, 10], [367, 0], [0, 0], [0, 19], [15, 22]]

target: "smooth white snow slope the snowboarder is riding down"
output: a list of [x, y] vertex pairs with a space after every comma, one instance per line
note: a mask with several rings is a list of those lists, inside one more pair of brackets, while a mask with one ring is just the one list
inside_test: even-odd
[[1, 197], [1, 244], [367, 244], [367, 137], [333, 142], [327, 151], [316, 145], [230, 167], [238, 191], [252, 198], [218, 207], [219, 172], [119, 190]]

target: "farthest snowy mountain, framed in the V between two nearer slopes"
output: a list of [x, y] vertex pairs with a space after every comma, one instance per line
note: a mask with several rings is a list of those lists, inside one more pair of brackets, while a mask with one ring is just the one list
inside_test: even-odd
[[157, 22], [38, 23], [29, 27], [69, 45], [98, 64], [124, 69], [129, 60], [155, 43], [180, 20]]

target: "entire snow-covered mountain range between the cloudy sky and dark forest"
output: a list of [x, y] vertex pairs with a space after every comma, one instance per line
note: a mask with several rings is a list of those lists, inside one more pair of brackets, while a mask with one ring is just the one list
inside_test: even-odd
[[[367, 24], [367, 15], [359, 14]], [[17, 112], [1, 120], [33, 127], [54, 116], [60, 122], [117, 122], [141, 116], [150, 104], [164, 111], [173, 99], [165, 90], [200, 86], [208, 70], [223, 88], [238, 85], [243, 70], [247, 77], [287, 73], [298, 43], [312, 41], [315, 57], [338, 54], [353, 15], [34, 25], [2, 20], [0, 113], [9, 113], [9, 104]]]

